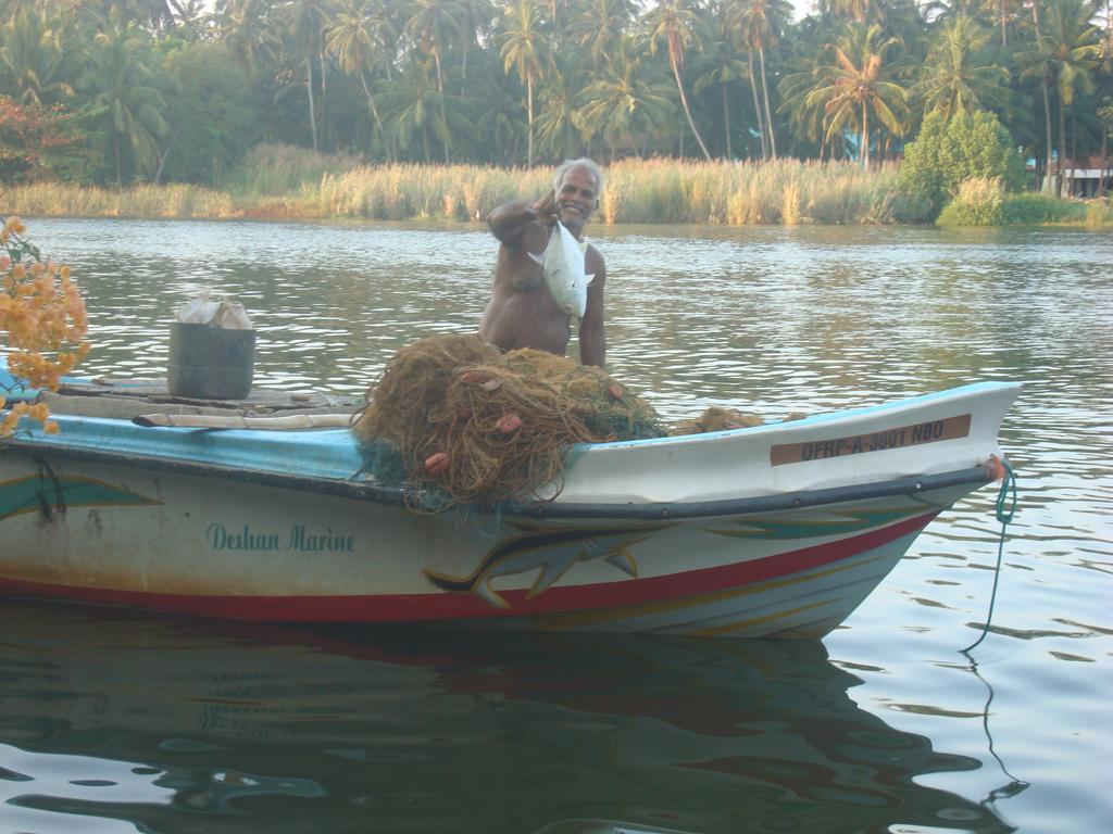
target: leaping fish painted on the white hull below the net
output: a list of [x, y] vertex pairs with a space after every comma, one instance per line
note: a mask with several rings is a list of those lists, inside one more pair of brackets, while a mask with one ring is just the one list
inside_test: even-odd
[[429, 569], [425, 576], [442, 590], [471, 593], [495, 608], [509, 608], [510, 603], [491, 587], [491, 582], [500, 576], [540, 570], [526, 599], [548, 590], [578, 562], [604, 559], [637, 578], [638, 563], [628, 548], [659, 529], [658, 526], [530, 533], [501, 542], [470, 576], [447, 576]]

